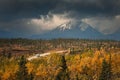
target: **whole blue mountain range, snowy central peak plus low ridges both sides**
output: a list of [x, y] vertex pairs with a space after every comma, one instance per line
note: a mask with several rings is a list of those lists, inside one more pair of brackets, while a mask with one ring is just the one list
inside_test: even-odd
[[[0, 38], [31, 38], [31, 39], [54, 39], [54, 38], [80, 38], [80, 39], [111, 39], [120, 40], [120, 30], [113, 34], [103, 34], [90, 25], [81, 21], [69, 21], [57, 28], [38, 35], [23, 35], [21, 33], [0, 30]], [[19, 35], [19, 36], [18, 36]]]

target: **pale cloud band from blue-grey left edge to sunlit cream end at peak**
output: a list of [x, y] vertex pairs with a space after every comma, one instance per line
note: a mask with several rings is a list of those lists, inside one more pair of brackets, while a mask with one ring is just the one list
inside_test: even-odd
[[61, 24], [74, 20], [73, 18], [68, 18], [67, 16], [67, 13], [52, 14], [49, 12], [48, 15], [40, 15], [39, 18], [25, 18], [4, 23], [1, 22], [0, 30], [14, 32], [21, 35], [41, 34], [52, 30]]

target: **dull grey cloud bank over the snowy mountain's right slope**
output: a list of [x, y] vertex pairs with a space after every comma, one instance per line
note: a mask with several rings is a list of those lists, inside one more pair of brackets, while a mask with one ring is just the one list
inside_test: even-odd
[[82, 21], [99, 30], [103, 34], [112, 34], [120, 30], [120, 15], [112, 18], [91, 17], [82, 19]]

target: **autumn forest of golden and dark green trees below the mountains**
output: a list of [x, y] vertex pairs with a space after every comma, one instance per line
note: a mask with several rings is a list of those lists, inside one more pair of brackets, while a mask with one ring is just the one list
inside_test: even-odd
[[0, 39], [0, 80], [120, 80], [119, 58], [114, 40]]

